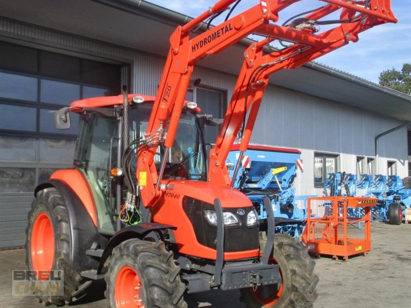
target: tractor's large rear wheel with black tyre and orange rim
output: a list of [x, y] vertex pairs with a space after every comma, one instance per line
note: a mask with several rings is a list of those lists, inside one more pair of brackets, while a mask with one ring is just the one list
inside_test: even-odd
[[68, 224], [67, 209], [59, 192], [55, 188], [39, 191], [28, 214], [26, 264], [31, 271], [64, 271], [63, 295], [36, 295], [46, 306], [64, 305], [83, 297], [89, 284], [70, 264]]

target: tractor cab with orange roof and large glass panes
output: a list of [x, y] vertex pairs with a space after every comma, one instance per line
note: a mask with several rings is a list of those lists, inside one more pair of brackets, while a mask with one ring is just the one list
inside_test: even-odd
[[[133, 98], [138, 98], [138, 100]], [[123, 175], [128, 172], [132, 185], [137, 186], [136, 165], [138, 141], [145, 138], [147, 123], [152, 112], [154, 97], [130, 94], [129, 140], [131, 150], [123, 155], [123, 95], [73, 102], [63, 108], [56, 118], [65, 118], [69, 128], [69, 113], [78, 112], [80, 130], [74, 157], [74, 167], [81, 172], [95, 200], [99, 232], [117, 232], [117, 195], [124, 197]], [[139, 101], [139, 103], [134, 103]], [[205, 147], [202, 138], [204, 125], [210, 116], [201, 114], [198, 107], [184, 108], [174, 145], [169, 151], [163, 179], [207, 181]], [[58, 122], [58, 121], [56, 121]], [[67, 124], [68, 122], [68, 124]], [[57, 125], [59, 126], [59, 125]], [[133, 145], [133, 143], [135, 143]], [[164, 155], [163, 145], [158, 145], [154, 160], [159, 169]], [[119, 190], [118, 187], [121, 186]], [[122, 198], [119, 198], [121, 200]]]

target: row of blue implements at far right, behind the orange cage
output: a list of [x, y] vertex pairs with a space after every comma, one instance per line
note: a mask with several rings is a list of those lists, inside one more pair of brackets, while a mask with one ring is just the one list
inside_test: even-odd
[[[401, 224], [405, 208], [411, 206], [411, 178], [401, 180], [398, 176], [329, 174], [326, 184], [326, 195], [329, 196], [361, 196], [377, 198], [377, 206], [372, 207], [372, 219], [388, 221], [389, 224]], [[356, 209], [353, 216], [362, 217], [364, 211]]]

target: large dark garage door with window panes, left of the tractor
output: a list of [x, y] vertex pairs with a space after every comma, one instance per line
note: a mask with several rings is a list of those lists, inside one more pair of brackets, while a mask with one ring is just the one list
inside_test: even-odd
[[59, 131], [50, 111], [120, 89], [121, 65], [0, 42], [0, 249], [24, 245], [34, 187], [72, 166], [79, 119]]

